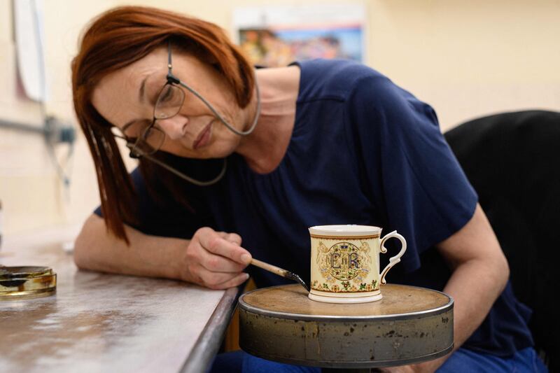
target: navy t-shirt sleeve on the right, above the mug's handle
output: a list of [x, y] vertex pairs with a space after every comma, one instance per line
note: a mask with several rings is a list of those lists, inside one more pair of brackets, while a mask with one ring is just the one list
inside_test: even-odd
[[476, 192], [428, 104], [388, 78], [373, 76], [359, 81], [349, 107], [353, 143], [384, 232], [397, 230], [405, 237], [402, 265], [418, 269], [423, 251], [470, 220]]

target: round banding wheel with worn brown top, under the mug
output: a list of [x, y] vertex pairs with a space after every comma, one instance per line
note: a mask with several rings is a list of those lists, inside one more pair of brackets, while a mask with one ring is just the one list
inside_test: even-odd
[[453, 300], [436, 290], [388, 284], [361, 304], [309, 300], [300, 285], [239, 298], [239, 344], [280, 363], [360, 369], [419, 363], [453, 349]]

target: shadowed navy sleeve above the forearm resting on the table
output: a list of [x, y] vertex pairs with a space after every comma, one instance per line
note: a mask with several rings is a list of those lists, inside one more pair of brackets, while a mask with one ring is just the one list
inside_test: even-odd
[[[132, 171], [130, 177], [137, 196], [137, 221], [125, 222], [127, 225], [144, 234], [183, 239], [190, 239], [196, 230], [202, 227], [203, 224], [196, 213], [174, 201], [170, 193], [159, 190], [162, 197], [155, 201], [148, 192], [146, 181], [138, 168]], [[158, 185], [155, 187], [158, 188]], [[98, 206], [94, 213], [103, 217], [101, 206]]]

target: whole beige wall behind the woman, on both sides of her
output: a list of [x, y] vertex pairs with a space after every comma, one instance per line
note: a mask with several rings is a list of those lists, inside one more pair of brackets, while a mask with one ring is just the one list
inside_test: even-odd
[[[231, 29], [235, 6], [337, 1], [45, 0], [48, 112], [73, 119], [69, 62], [91, 17], [120, 4], [158, 5]], [[560, 111], [560, 1], [372, 0], [367, 64], [432, 104], [442, 129], [478, 115], [524, 108]], [[35, 122], [37, 104], [16, 94], [10, 1], [0, 0], [0, 118]], [[58, 156], [66, 149], [61, 146]], [[64, 192], [42, 139], [0, 129], [0, 199], [7, 234], [83, 220], [98, 204], [85, 141]]]

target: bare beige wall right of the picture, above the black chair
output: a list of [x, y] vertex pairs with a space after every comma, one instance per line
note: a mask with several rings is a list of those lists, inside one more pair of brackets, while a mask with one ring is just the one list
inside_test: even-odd
[[473, 116], [560, 110], [560, 1], [374, 1], [372, 66], [435, 107]]

